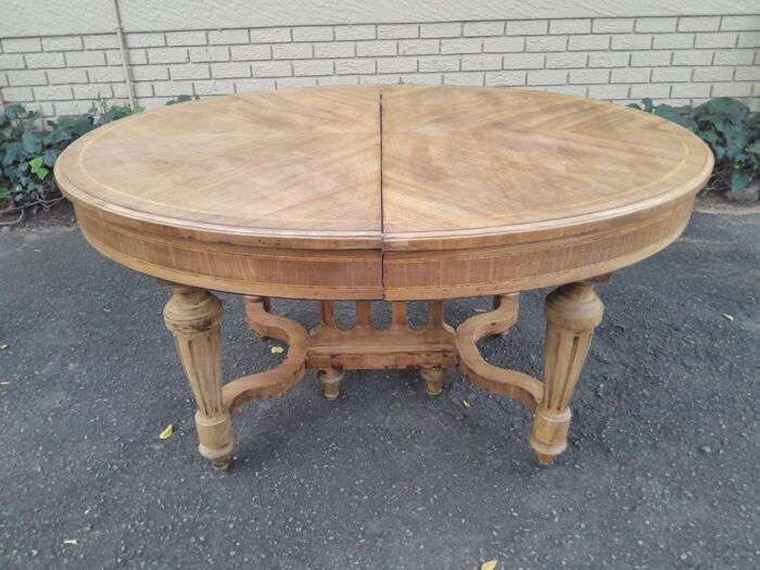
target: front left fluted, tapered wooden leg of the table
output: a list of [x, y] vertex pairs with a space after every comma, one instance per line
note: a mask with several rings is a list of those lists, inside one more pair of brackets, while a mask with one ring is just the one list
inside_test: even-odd
[[221, 303], [208, 291], [169, 284], [174, 294], [164, 308], [179, 359], [195, 396], [199, 451], [218, 469], [227, 468], [235, 445], [230, 414], [221, 400]]

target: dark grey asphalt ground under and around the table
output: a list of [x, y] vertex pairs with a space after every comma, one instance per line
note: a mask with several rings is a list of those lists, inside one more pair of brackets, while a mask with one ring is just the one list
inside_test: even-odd
[[[75, 227], [2, 231], [0, 567], [757, 568], [760, 215], [719, 210], [598, 288], [605, 320], [549, 468], [520, 404], [454, 371], [429, 397], [389, 370], [350, 373], [337, 402], [309, 372], [243, 408], [235, 465], [213, 471], [167, 291]], [[481, 342], [489, 362], [541, 375], [545, 294]], [[281, 360], [221, 299], [226, 379]], [[489, 306], [447, 302], [446, 318]], [[314, 303], [274, 309], [316, 324]]]

